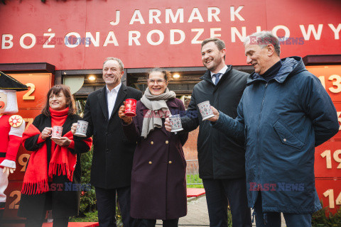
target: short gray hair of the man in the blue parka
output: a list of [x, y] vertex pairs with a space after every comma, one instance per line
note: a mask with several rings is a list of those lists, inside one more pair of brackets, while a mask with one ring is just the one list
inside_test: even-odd
[[268, 44], [274, 45], [276, 54], [281, 54], [281, 46], [276, 35], [271, 31], [261, 31], [259, 33], [253, 33], [247, 36], [244, 40], [244, 45], [259, 45], [261, 48], [265, 48]]

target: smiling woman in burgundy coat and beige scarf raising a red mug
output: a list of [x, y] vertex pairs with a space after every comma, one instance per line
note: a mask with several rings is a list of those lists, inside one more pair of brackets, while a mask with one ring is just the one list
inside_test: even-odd
[[188, 133], [170, 133], [164, 126], [171, 114], [184, 114], [183, 102], [167, 88], [168, 72], [155, 68], [148, 72], [148, 88], [136, 104], [136, 117], [119, 117], [124, 121], [126, 138], [137, 143], [131, 172], [131, 217], [139, 226], [178, 226], [187, 214], [186, 161], [183, 145]]

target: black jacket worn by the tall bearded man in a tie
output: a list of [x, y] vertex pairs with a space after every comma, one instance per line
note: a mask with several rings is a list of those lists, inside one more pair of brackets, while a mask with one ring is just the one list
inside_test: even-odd
[[244, 146], [220, 133], [210, 126], [210, 121], [202, 121], [197, 104], [210, 101], [211, 106], [224, 114], [235, 118], [237, 106], [247, 85], [249, 74], [232, 69], [232, 65], [213, 84], [210, 70], [200, 77], [195, 84], [186, 116], [181, 118], [183, 129], [193, 131], [197, 126], [197, 159], [199, 160], [199, 177], [202, 179], [238, 179], [245, 177]]

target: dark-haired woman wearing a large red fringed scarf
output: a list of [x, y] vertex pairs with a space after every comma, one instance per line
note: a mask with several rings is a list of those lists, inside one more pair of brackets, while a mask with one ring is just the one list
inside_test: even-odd
[[[42, 114], [23, 133], [23, 145], [32, 154], [23, 177], [18, 216], [26, 227], [42, 226], [46, 210], [53, 211], [53, 226], [66, 227], [80, 206], [80, 153], [90, 150], [92, 139], [75, 140], [72, 123], [75, 100], [65, 85], [48, 91]], [[53, 126], [63, 126], [61, 138], [51, 138]]]

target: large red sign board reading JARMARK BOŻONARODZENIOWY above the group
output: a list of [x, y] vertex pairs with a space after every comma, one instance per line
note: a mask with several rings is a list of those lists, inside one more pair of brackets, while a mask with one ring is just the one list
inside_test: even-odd
[[127, 68], [195, 67], [202, 40], [218, 37], [227, 64], [247, 65], [242, 40], [262, 30], [281, 37], [281, 57], [338, 54], [340, 9], [310, 0], [6, 1], [0, 63], [97, 69], [113, 56]]

